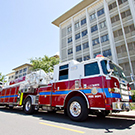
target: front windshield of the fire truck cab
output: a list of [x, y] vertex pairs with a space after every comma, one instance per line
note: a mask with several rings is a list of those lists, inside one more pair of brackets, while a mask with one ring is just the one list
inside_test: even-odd
[[103, 60], [101, 61], [101, 66], [104, 74], [110, 74], [109, 69], [111, 69], [112, 75], [127, 80], [123, 70], [112, 61]]

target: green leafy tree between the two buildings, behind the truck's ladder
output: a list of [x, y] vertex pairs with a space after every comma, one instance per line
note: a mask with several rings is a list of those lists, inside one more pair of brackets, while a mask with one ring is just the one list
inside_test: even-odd
[[43, 58], [30, 59], [31, 70], [43, 69], [46, 73], [53, 71], [53, 66], [59, 63], [59, 58], [44, 56]]

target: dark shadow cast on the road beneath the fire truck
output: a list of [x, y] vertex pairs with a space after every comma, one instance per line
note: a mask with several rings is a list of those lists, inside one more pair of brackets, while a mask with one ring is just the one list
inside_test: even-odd
[[[26, 115], [21, 109], [8, 109], [1, 108], [1, 112], [5, 113], [15, 113], [19, 115]], [[28, 116], [28, 115], [26, 115]], [[71, 121], [68, 116], [65, 116], [62, 112], [58, 113], [48, 113], [48, 112], [37, 112], [33, 114], [32, 117], [37, 117], [39, 120], [50, 121], [50, 122], [58, 122], [64, 124], [70, 124], [75, 126], [80, 126], [89, 129], [104, 129], [105, 133], [112, 133], [112, 129], [124, 130], [124, 129], [132, 129], [132, 126], [135, 124], [135, 119], [129, 118], [116, 118], [107, 116], [106, 118], [98, 118], [96, 116], [89, 116], [88, 119], [84, 122], [74, 122]]]

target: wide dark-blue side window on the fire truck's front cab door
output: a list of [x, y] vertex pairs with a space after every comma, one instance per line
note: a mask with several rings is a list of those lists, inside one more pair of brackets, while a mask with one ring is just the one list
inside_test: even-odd
[[85, 73], [85, 76], [99, 74], [100, 72], [99, 72], [99, 67], [98, 67], [97, 62], [84, 65], [84, 73]]

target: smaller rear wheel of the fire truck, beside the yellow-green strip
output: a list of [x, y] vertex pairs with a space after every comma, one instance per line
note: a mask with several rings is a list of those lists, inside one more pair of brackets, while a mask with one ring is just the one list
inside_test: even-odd
[[25, 101], [24, 112], [26, 114], [32, 114], [34, 112], [34, 106], [32, 106], [30, 98], [27, 98]]

